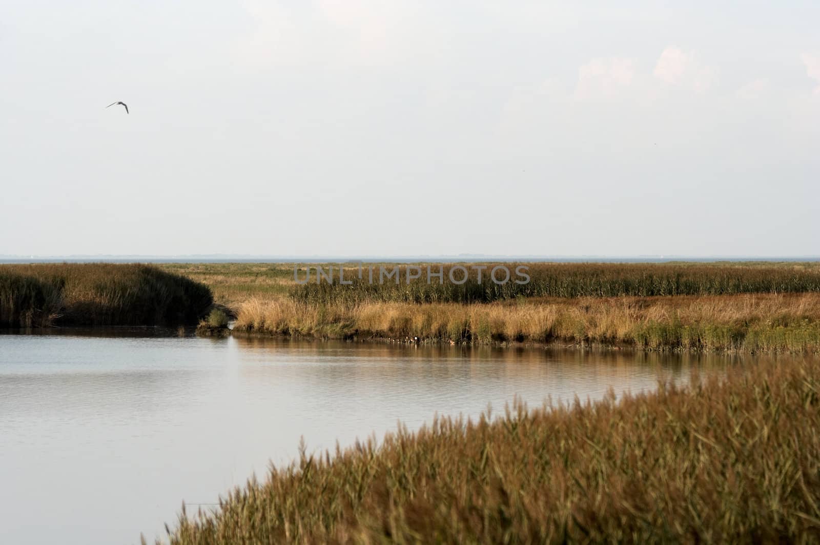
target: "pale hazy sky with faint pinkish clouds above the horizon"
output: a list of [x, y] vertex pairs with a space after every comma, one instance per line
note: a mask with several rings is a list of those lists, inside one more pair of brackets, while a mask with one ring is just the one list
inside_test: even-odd
[[0, 254], [820, 254], [820, 2], [580, 3], [0, 2]]

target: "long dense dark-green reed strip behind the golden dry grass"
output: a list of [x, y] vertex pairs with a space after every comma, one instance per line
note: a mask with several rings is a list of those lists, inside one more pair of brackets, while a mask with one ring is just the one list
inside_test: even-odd
[[[467, 281], [450, 280], [451, 269], [467, 269]], [[499, 284], [490, 277], [494, 267], [504, 266], [510, 271], [508, 282]], [[343, 285], [339, 281], [338, 266], [333, 281], [323, 278], [317, 282], [312, 266], [309, 282], [294, 286], [295, 300], [311, 303], [360, 303], [391, 301], [408, 303], [487, 303], [520, 297], [622, 297], [655, 295], [734, 295], [740, 293], [796, 293], [820, 291], [820, 269], [813, 264], [622, 264], [622, 263], [462, 263], [402, 265], [398, 274], [387, 277], [394, 266], [372, 266], [372, 282], [368, 265], [359, 278], [358, 268], [344, 270]], [[417, 267], [414, 268], [414, 267]], [[443, 282], [431, 273], [443, 273]], [[484, 267], [478, 270], [479, 267]], [[526, 267], [525, 277], [517, 274], [518, 267]], [[328, 271], [325, 265], [323, 270]], [[411, 274], [408, 275], [408, 270]], [[412, 278], [420, 273], [420, 277]], [[481, 273], [481, 282], [479, 274]], [[297, 277], [307, 278], [303, 265]], [[501, 282], [503, 270], [496, 273]], [[464, 271], [453, 271], [453, 278], [461, 282]], [[396, 280], [398, 279], [398, 282]], [[294, 282], [295, 283], [295, 282]]]

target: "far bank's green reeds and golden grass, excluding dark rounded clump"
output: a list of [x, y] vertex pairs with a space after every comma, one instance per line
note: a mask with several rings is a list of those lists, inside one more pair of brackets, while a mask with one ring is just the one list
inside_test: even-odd
[[[401, 265], [399, 271], [426, 265]], [[526, 263], [532, 278], [526, 293], [548, 294], [537, 296], [517, 293], [522, 286], [504, 291], [486, 282], [492, 265], [463, 264], [485, 267], [481, 286], [428, 286], [426, 278], [371, 285], [358, 282], [358, 265], [349, 263], [311, 264], [314, 270], [335, 267], [335, 281], [302, 286], [294, 281], [293, 263], [166, 268], [211, 286], [216, 301], [235, 316], [235, 331], [249, 335], [820, 352], [818, 263]], [[517, 265], [508, 263], [510, 270]], [[370, 266], [381, 264], [366, 264], [363, 279]], [[306, 266], [300, 267], [303, 279]], [[339, 283], [339, 267], [352, 284]], [[446, 274], [454, 264], [431, 267]]]

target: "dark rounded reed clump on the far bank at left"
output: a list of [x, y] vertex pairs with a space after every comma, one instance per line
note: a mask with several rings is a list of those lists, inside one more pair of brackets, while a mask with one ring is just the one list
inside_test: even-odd
[[0, 327], [196, 323], [207, 286], [153, 265], [0, 265]]

